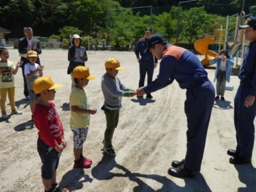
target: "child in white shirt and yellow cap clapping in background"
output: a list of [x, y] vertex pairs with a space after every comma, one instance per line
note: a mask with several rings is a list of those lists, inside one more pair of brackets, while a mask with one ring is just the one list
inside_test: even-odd
[[39, 65], [36, 63], [38, 58], [36, 51], [28, 51], [27, 52], [28, 63], [24, 66], [24, 75], [26, 77], [26, 82], [28, 86], [28, 94], [30, 97], [30, 110], [32, 113], [31, 120], [33, 121], [33, 111], [36, 105], [36, 94], [32, 91], [32, 84], [34, 80], [38, 77], [43, 76], [43, 65]]

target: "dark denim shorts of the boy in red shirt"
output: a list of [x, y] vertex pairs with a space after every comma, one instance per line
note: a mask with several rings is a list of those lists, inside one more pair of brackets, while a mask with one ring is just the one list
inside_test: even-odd
[[54, 171], [57, 170], [59, 164], [59, 152], [54, 148], [48, 152], [47, 148], [50, 146], [46, 145], [40, 138], [37, 140], [37, 151], [42, 161], [42, 178], [52, 179]]

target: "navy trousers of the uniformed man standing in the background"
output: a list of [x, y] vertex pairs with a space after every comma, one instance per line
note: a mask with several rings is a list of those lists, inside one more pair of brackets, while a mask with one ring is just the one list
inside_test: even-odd
[[154, 73], [154, 58], [153, 57], [141, 57], [140, 59], [140, 80], [139, 87], [144, 86], [146, 74], [148, 76], [148, 84], [152, 82]]

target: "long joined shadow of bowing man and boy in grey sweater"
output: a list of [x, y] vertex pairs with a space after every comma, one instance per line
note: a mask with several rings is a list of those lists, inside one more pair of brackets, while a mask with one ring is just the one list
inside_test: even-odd
[[[112, 169], [117, 168], [123, 171], [123, 173], [113, 173]], [[167, 174], [167, 171], [166, 171]], [[175, 184], [172, 180], [167, 178], [166, 176], [160, 176], [157, 174], [140, 174], [136, 172], [131, 172], [124, 166], [117, 164], [114, 157], [110, 157], [106, 154], [102, 156], [102, 160], [98, 162], [98, 164], [92, 168], [92, 176], [97, 180], [110, 180], [114, 177], [127, 177], [130, 181], [136, 182], [138, 185], [133, 188], [134, 192], [162, 192], [162, 191], [186, 191], [186, 192], [194, 192], [194, 191], [204, 191], [211, 192], [209, 186], [202, 174], [196, 174], [195, 178], [184, 178], [185, 186], [181, 187]], [[150, 180], [155, 180], [162, 184], [162, 188], [155, 190], [146, 182], [144, 182], [141, 178], [146, 178]]]

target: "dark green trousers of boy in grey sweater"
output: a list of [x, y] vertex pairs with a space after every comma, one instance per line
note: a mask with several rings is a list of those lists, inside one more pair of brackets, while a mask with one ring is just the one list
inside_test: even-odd
[[119, 120], [119, 110], [104, 110], [106, 115], [107, 128], [105, 130], [104, 139], [105, 139], [105, 147], [112, 146], [112, 138], [114, 134], [114, 130], [117, 127]]

